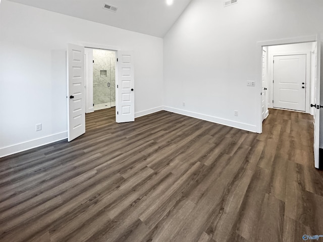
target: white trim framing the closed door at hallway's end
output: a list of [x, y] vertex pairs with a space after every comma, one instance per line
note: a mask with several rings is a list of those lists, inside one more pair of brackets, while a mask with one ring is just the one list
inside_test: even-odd
[[[284, 55], [299, 55], [299, 54], [305, 54], [305, 58], [306, 58], [306, 76], [305, 76], [305, 83], [306, 83], [306, 89], [305, 89], [305, 112], [306, 113], [310, 113], [310, 107], [309, 107], [309, 96], [310, 96], [310, 90], [311, 90], [311, 80], [310, 80], [310, 60], [311, 60], [311, 51], [297, 51], [297, 52], [275, 52], [272, 53], [269, 56], [269, 63], [270, 63], [270, 69], [271, 69], [271, 73], [270, 73], [270, 80], [274, 80], [274, 56], [284, 56]], [[270, 100], [273, 100], [274, 98], [274, 85], [273, 85], [273, 81], [270, 82]], [[269, 102], [269, 107], [273, 108], [273, 102]], [[293, 110], [293, 111], [297, 111], [297, 110]], [[299, 112], [303, 112], [303, 111], [299, 111]]]

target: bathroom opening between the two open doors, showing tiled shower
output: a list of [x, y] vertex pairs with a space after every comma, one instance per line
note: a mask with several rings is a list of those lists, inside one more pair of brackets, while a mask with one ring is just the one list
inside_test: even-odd
[[86, 113], [116, 106], [116, 51], [85, 48]]

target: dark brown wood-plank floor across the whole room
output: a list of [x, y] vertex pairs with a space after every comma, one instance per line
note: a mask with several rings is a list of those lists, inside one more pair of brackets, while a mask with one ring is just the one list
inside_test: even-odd
[[303, 241], [323, 234], [308, 114], [254, 134], [160, 111], [87, 114], [67, 143], [0, 159], [0, 241]]

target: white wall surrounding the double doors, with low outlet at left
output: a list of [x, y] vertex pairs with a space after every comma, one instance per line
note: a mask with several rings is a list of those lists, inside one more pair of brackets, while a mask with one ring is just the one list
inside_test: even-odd
[[0, 157], [67, 137], [67, 43], [133, 50], [136, 116], [163, 108], [161, 38], [7, 0], [0, 31]]

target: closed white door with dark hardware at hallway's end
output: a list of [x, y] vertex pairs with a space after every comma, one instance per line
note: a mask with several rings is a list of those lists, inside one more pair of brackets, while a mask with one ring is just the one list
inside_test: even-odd
[[306, 54], [274, 56], [273, 107], [305, 111]]

